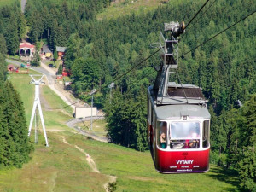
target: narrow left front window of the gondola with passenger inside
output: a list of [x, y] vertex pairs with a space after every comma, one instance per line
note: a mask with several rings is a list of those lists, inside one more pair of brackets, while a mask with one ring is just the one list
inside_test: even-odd
[[165, 121], [157, 122], [157, 143], [159, 148], [167, 147], [167, 123]]

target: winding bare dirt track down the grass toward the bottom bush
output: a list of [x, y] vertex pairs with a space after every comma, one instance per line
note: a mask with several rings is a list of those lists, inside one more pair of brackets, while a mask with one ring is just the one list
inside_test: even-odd
[[[67, 145], [72, 146], [71, 144], [67, 143], [67, 137], [62, 137], [62, 141], [63, 141], [63, 143], [66, 143]], [[83, 148], [79, 148], [79, 146], [77, 146], [77, 145], [75, 145], [74, 147], [77, 148], [82, 154], [84, 154], [86, 156], [86, 161], [87, 161], [88, 165], [90, 166], [90, 168], [92, 169], [92, 172], [101, 173], [97, 169], [96, 163], [92, 159], [90, 154], [85, 153], [84, 149]], [[106, 175], [106, 176], [108, 177], [108, 183], [115, 183], [116, 182], [117, 177], [112, 176], [112, 175]], [[103, 187], [106, 190], [106, 192], [109, 192], [108, 191], [108, 183], [104, 183], [103, 184]]]

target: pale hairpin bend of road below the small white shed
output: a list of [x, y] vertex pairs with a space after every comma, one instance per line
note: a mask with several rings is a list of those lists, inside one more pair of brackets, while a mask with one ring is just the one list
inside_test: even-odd
[[[92, 117], [93, 120], [97, 120], [97, 119], [104, 119], [104, 117]], [[75, 129], [76, 131], [79, 131], [80, 134], [87, 136], [87, 137], [92, 137], [93, 139], [100, 141], [100, 142], [110, 142], [111, 140], [109, 139], [109, 137], [99, 137], [96, 136], [94, 133], [88, 132], [88, 131], [84, 131], [79, 129], [78, 127], [74, 126], [75, 124], [80, 123], [81, 121], [85, 121], [85, 120], [90, 120], [90, 117], [88, 118], [84, 118], [84, 119], [71, 119], [69, 121], [67, 121], [66, 125], [70, 128]]]

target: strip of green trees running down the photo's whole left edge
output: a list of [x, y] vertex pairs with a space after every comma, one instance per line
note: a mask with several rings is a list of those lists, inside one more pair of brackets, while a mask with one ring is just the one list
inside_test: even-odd
[[[21, 167], [30, 160], [29, 154], [32, 151], [32, 145], [28, 143], [23, 103], [18, 92], [7, 80], [5, 62], [6, 55], [15, 53], [20, 42], [20, 26], [16, 25], [20, 18], [14, 18], [17, 14], [21, 15], [20, 12], [17, 4], [0, 9], [0, 168]], [[16, 21], [11, 23], [13, 20]]]

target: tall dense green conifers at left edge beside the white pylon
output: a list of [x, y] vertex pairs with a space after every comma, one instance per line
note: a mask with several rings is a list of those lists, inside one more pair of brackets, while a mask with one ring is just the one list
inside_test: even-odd
[[21, 167], [29, 160], [26, 118], [20, 96], [8, 81], [0, 85], [0, 166]]

